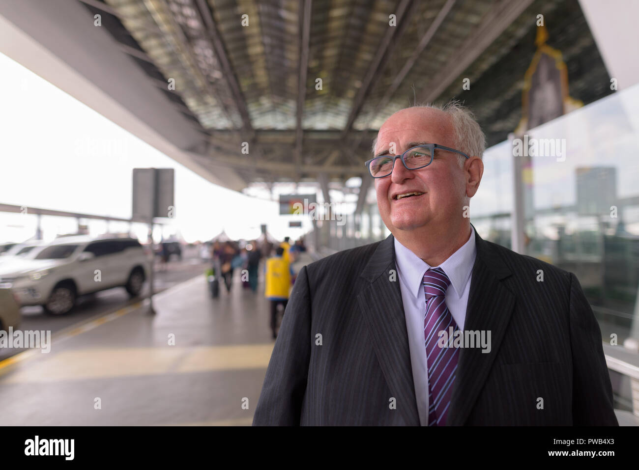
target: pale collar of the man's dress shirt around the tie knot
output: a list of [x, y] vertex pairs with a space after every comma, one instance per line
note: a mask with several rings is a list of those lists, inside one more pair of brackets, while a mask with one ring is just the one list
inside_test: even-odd
[[[439, 266], [450, 279], [450, 284], [455, 289], [458, 298], [461, 298], [466, 289], [476, 256], [475, 227], [471, 225], [468, 241]], [[400, 281], [404, 282], [408, 291], [412, 292], [413, 295], [419, 296], [424, 290], [422, 284], [424, 273], [427, 269], [436, 268], [436, 266], [429, 266], [427, 262], [399, 243], [397, 238], [395, 238], [395, 261], [397, 269], [401, 273]]]

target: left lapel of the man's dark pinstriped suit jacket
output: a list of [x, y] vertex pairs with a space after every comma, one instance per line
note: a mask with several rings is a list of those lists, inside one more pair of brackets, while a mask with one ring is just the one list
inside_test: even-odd
[[[369, 284], [357, 299], [381, 370], [392, 397], [396, 398], [397, 412], [407, 424], [419, 426], [406, 317], [394, 255], [394, 238], [389, 235], [381, 241], [362, 271], [361, 276]], [[390, 280], [390, 269], [395, 270], [394, 281]]]

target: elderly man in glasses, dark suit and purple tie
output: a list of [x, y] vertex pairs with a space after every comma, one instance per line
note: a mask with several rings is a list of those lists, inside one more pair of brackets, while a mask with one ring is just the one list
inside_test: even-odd
[[381, 126], [392, 235], [300, 271], [254, 425], [617, 425], [577, 278], [470, 224], [483, 151], [457, 103]]

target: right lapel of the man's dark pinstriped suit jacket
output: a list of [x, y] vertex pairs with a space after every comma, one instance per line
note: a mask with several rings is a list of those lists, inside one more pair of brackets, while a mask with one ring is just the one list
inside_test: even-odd
[[511, 272], [500, 255], [475, 231], [473, 265], [464, 330], [491, 331], [491, 352], [460, 349], [447, 425], [464, 425], [479, 396], [511, 319], [515, 296], [502, 284]]

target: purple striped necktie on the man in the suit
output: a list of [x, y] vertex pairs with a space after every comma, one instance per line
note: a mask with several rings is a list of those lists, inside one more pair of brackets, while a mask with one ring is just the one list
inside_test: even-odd
[[431, 268], [424, 274], [424, 294], [426, 294], [426, 315], [424, 316], [424, 344], [426, 345], [426, 363], [428, 367], [428, 425], [443, 426], [455, 381], [459, 350], [452, 347], [440, 347], [440, 331], [459, 330], [445, 303], [446, 289], [450, 279], [442, 268]]

